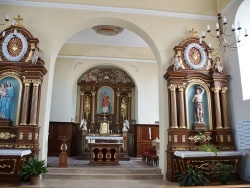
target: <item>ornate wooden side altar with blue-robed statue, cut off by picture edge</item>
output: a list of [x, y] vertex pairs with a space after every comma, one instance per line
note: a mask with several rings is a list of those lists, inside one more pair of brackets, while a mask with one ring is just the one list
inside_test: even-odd
[[0, 33], [0, 148], [38, 154], [40, 92], [47, 71], [39, 40], [22, 20], [18, 16]]

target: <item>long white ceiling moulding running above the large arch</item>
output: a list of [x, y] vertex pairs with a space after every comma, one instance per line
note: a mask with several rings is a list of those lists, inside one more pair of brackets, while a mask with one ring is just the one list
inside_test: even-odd
[[216, 20], [216, 16], [204, 16], [204, 15], [176, 13], [176, 12], [167, 12], [167, 11], [107, 7], [107, 6], [94, 6], [94, 5], [30, 2], [30, 1], [19, 1], [19, 0], [0, 0], [0, 4], [30, 6], [30, 7], [63, 8], [63, 9], [74, 9], [74, 10], [88, 10], [88, 11], [104, 11], [104, 12], [116, 12], [116, 13], [126, 13], [126, 14], [139, 14], [139, 15], [152, 15], [152, 16], [165, 16], [165, 17], [188, 18], [188, 19], [212, 20], [212, 21]]

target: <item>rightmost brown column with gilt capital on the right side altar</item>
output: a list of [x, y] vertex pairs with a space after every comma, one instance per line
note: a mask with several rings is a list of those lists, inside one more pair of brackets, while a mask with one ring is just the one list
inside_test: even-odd
[[227, 87], [221, 88], [222, 119], [224, 129], [230, 129], [227, 103]]

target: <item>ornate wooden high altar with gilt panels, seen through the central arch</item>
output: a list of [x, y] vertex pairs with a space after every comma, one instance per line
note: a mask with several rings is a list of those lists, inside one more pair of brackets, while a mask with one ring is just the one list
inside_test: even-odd
[[[117, 68], [92, 68], [78, 81], [80, 97], [79, 120], [85, 119], [87, 130], [79, 130], [81, 155], [86, 152], [86, 136], [91, 134], [122, 134], [123, 152], [128, 153], [128, 134], [122, 132], [125, 120], [131, 122], [134, 83]], [[130, 130], [129, 130], [130, 131]]]

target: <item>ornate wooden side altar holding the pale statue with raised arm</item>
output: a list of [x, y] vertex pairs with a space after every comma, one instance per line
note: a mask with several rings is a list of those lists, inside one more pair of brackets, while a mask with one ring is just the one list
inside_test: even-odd
[[[176, 175], [181, 172], [180, 160], [174, 152], [197, 151], [198, 131], [210, 136], [210, 143], [220, 151], [234, 150], [227, 101], [230, 76], [222, 71], [219, 58], [212, 59], [213, 49], [204, 41], [200, 43], [196, 33], [192, 30], [174, 47], [172, 65], [164, 75], [169, 89], [166, 177], [170, 181], [176, 181]], [[239, 160], [239, 157], [231, 156], [231, 159]]]

